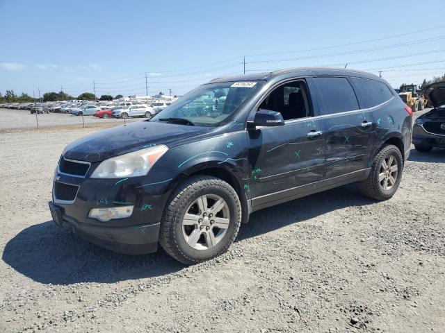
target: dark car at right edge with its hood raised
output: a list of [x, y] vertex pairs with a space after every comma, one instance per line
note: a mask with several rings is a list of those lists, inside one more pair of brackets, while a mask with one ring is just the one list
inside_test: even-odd
[[418, 117], [412, 128], [412, 143], [421, 152], [445, 148], [445, 82], [433, 83], [425, 91], [433, 109]]

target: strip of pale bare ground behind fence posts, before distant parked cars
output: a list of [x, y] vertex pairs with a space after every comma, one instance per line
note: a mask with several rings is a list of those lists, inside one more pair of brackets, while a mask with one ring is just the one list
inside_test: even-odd
[[[39, 128], [51, 128], [51, 127], [72, 127], [81, 128], [83, 122], [86, 127], [90, 126], [118, 126], [124, 123], [124, 119], [100, 119], [92, 116], [82, 117], [74, 116], [74, 114], [64, 113], [44, 113], [38, 114], [37, 120], [35, 114], [31, 114], [29, 110], [10, 110], [0, 108], [0, 133], [8, 130], [15, 129], [31, 129], [37, 128], [37, 121]], [[142, 118], [126, 119], [129, 121], [140, 121]]]

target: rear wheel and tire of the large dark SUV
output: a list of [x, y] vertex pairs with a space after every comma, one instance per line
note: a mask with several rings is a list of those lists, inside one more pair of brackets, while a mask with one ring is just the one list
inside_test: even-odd
[[[391, 161], [391, 171], [385, 168], [385, 164]], [[385, 164], [384, 164], [385, 161]], [[397, 169], [394, 171], [394, 165]], [[388, 200], [398, 189], [403, 173], [403, 159], [401, 151], [392, 144], [384, 146], [374, 157], [369, 177], [359, 182], [359, 189], [365, 196], [375, 200]], [[383, 179], [382, 179], [383, 177]], [[385, 189], [386, 183], [386, 189]]]

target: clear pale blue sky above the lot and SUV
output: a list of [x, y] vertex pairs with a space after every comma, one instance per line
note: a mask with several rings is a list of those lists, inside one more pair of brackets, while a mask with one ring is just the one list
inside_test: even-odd
[[184, 94], [243, 74], [243, 57], [247, 73], [348, 64], [420, 84], [445, 73], [444, 12], [443, 0], [0, 0], [0, 92], [145, 95], [147, 74], [149, 94]]

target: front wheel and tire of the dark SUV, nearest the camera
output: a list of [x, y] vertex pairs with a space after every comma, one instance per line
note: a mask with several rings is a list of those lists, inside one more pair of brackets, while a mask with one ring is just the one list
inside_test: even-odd
[[[200, 201], [203, 196], [207, 197], [207, 205], [204, 203], [207, 215], [200, 209], [204, 207]], [[212, 211], [220, 199], [223, 208]], [[191, 219], [184, 220], [186, 213]], [[159, 243], [179, 262], [197, 264], [225, 253], [238, 234], [240, 224], [241, 203], [233, 187], [216, 177], [191, 176], [173, 191], [165, 207]], [[213, 237], [208, 237], [210, 234]]]

